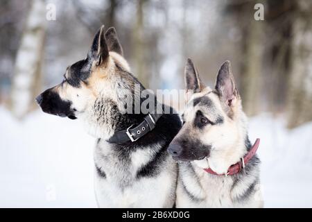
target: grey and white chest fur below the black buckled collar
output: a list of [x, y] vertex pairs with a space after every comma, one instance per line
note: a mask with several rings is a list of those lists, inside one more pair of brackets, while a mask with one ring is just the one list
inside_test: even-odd
[[100, 207], [172, 207], [176, 164], [164, 144], [129, 148], [99, 141], [95, 188]]

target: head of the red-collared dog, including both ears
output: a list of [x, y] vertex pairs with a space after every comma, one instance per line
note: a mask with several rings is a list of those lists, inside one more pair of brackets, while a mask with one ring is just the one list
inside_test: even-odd
[[241, 99], [235, 87], [230, 63], [224, 62], [212, 90], [200, 82], [191, 60], [185, 67], [186, 89], [194, 92], [182, 114], [182, 129], [171, 142], [168, 151], [175, 160], [214, 159], [231, 155], [241, 128], [237, 116]]

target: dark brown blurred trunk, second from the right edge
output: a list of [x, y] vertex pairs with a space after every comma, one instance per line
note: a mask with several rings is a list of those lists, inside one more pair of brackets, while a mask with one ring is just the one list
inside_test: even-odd
[[266, 4], [266, 96], [269, 110], [284, 111], [291, 76], [291, 30], [295, 1], [267, 0]]

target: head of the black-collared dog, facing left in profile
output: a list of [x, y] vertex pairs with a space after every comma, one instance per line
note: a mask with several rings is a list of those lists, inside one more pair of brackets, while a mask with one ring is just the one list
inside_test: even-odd
[[124, 107], [119, 101], [138, 83], [129, 71], [115, 29], [105, 33], [102, 26], [87, 57], [70, 65], [62, 83], [46, 89], [36, 101], [44, 112], [82, 119], [89, 133], [108, 137], [114, 130], [110, 117], [121, 112]]

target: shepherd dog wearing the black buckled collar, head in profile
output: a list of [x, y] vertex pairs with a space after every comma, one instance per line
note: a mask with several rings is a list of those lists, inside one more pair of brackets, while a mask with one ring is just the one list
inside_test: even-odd
[[[130, 73], [115, 29], [105, 33], [102, 26], [87, 57], [70, 65], [62, 83], [36, 100], [44, 112], [81, 119], [97, 138], [94, 161], [99, 207], [173, 207], [177, 164], [167, 148], [180, 130], [180, 118], [171, 110], [171, 114], [153, 115], [157, 117], [153, 124], [156, 119], [140, 110], [126, 112], [125, 100], [142, 103], [135, 98], [135, 85], [144, 89]], [[132, 130], [136, 126], [142, 132], [150, 127], [150, 131], [139, 136], [140, 130]], [[132, 133], [129, 138], [126, 129]], [[130, 138], [135, 136], [137, 140]]]

